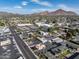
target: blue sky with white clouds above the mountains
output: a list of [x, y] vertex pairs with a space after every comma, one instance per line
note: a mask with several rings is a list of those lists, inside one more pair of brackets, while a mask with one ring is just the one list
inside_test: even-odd
[[31, 14], [63, 9], [79, 14], [79, 0], [0, 0], [0, 11]]

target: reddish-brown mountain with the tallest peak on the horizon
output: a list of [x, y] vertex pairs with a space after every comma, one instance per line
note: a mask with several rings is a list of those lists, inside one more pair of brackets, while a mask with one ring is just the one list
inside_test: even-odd
[[39, 15], [77, 15], [73, 11], [65, 11], [65, 10], [62, 10], [62, 9], [58, 9], [58, 10], [52, 11], [52, 12], [44, 11], [44, 12], [40, 12], [38, 14]]

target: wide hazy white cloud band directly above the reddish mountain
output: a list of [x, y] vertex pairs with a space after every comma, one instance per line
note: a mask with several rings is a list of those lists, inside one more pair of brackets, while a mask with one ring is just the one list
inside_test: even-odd
[[32, 13], [38, 13], [38, 12], [43, 12], [43, 11], [55, 11], [57, 9], [63, 9], [66, 11], [73, 11], [76, 12], [77, 14], [79, 14], [79, 8], [72, 8], [70, 6], [67, 6], [65, 4], [58, 4], [57, 6], [55, 6], [56, 8], [36, 8], [36, 9], [31, 9]]

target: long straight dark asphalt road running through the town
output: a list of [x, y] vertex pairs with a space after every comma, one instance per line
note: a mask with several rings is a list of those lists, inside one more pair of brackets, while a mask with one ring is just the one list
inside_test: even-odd
[[12, 35], [14, 36], [14, 39], [20, 48], [23, 56], [25, 59], [37, 59], [35, 55], [32, 53], [32, 51], [29, 49], [29, 47], [24, 43], [24, 41], [16, 34], [14, 31], [14, 27], [9, 27]]

